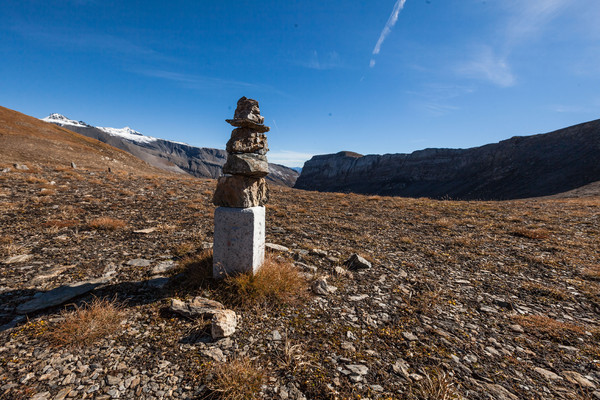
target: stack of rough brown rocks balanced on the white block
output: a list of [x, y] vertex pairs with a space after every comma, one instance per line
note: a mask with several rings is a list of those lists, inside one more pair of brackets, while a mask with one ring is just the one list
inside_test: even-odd
[[263, 206], [269, 198], [265, 176], [269, 173], [267, 135], [258, 101], [242, 97], [238, 100], [234, 126], [227, 142], [225, 176], [219, 178], [213, 203], [220, 207], [248, 208]]

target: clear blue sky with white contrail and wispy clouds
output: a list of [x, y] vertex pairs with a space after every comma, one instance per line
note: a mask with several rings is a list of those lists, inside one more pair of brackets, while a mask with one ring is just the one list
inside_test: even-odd
[[6, 1], [0, 105], [269, 159], [473, 147], [600, 118], [598, 0]]

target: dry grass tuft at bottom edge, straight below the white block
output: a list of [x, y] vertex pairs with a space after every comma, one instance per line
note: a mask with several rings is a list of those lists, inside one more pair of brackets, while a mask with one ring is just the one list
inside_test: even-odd
[[260, 367], [247, 357], [217, 364], [212, 374], [208, 387], [213, 393], [209, 397], [223, 400], [258, 399], [261, 386], [266, 381]]

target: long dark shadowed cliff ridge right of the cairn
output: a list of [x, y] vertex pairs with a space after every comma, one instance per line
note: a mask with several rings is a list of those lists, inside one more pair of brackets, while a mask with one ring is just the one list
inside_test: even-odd
[[600, 120], [471, 149], [311, 158], [294, 187], [327, 192], [504, 200], [600, 180]]

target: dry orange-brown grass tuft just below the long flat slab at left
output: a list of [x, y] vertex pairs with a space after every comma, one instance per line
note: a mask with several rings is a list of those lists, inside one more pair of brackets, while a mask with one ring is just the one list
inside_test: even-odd
[[55, 345], [80, 347], [116, 332], [125, 312], [115, 300], [94, 299], [61, 315], [64, 320], [50, 327], [46, 337]]

